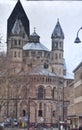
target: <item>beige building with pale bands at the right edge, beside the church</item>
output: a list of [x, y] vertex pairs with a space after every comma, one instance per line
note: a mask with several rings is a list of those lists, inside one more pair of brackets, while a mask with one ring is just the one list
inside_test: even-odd
[[82, 62], [74, 69], [74, 81], [70, 86], [69, 117], [73, 127], [82, 124]]

